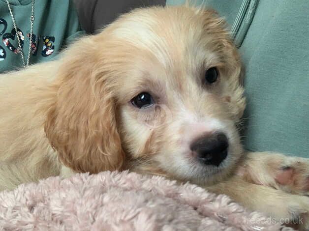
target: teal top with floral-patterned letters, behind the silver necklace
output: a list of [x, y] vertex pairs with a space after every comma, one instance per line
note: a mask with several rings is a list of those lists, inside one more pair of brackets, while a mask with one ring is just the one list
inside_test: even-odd
[[[20, 33], [25, 61], [28, 58], [31, 0], [9, 0]], [[83, 34], [71, 0], [35, 0], [30, 63], [47, 61], [65, 44]], [[0, 0], [0, 73], [23, 67], [18, 41], [5, 0]], [[44, 70], [42, 70], [44, 71]]]

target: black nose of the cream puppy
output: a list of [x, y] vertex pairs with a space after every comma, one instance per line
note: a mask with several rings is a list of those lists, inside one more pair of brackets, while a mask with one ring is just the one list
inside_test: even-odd
[[223, 133], [213, 133], [195, 140], [191, 151], [196, 152], [197, 158], [205, 165], [219, 166], [227, 156], [228, 140]]

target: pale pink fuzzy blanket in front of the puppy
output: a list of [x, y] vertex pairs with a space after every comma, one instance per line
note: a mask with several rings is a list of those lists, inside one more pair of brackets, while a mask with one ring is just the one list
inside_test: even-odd
[[158, 176], [103, 172], [51, 177], [0, 193], [0, 230], [292, 230], [227, 196]]

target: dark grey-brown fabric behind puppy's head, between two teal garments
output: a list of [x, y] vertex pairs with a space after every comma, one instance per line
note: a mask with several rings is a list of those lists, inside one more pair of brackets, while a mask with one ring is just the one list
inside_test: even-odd
[[74, 0], [82, 28], [94, 33], [137, 7], [165, 5], [166, 0]]

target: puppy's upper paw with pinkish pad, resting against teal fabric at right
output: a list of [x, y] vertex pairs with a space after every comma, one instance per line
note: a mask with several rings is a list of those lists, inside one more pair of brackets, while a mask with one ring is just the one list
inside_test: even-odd
[[309, 159], [270, 152], [250, 152], [239, 174], [255, 184], [309, 196]]

